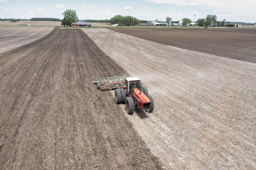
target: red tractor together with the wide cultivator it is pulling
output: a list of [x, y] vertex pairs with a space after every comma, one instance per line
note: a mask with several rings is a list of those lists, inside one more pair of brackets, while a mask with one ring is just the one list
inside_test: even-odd
[[141, 80], [137, 77], [105, 77], [92, 83], [102, 91], [115, 89], [115, 102], [125, 104], [129, 115], [133, 114], [135, 106], [141, 112], [154, 111], [154, 100], [148, 95], [147, 87], [142, 87]]

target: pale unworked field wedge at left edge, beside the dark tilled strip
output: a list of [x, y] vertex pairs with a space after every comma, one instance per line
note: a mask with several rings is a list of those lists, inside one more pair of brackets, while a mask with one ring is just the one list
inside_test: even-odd
[[29, 44], [49, 34], [54, 27], [0, 27], [0, 53]]

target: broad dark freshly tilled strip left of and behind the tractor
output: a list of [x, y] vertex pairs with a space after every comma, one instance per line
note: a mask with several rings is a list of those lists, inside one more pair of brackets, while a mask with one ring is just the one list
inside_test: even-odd
[[98, 77], [127, 75], [80, 29], [0, 54], [0, 169], [161, 169]]

